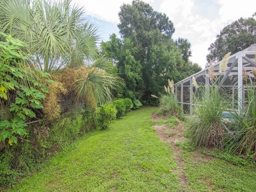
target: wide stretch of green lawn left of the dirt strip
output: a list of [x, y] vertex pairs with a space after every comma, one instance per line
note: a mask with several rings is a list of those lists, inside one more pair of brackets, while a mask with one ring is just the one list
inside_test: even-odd
[[150, 114], [129, 112], [110, 128], [80, 139], [48, 167], [10, 191], [179, 191], [172, 149], [154, 135]]

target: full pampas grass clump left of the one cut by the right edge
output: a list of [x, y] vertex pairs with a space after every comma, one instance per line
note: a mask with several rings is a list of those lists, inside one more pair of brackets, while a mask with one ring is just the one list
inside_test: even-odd
[[227, 130], [223, 112], [229, 108], [224, 90], [216, 84], [198, 87], [194, 94], [194, 113], [188, 136], [196, 146], [224, 149], [224, 134]]

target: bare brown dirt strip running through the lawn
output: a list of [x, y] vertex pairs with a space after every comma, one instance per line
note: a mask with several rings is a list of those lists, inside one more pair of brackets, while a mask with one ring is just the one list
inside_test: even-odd
[[[160, 121], [163, 120], [163, 117], [160, 115], [157, 115], [156, 112], [152, 114], [152, 121]], [[160, 140], [163, 142], [166, 142], [172, 146], [173, 150], [173, 156], [176, 158], [178, 162], [178, 169], [175, 170], [175, 173], [178, 174], [180, 178], [180, 184], [184, 186], [183, 191], [186, 190], [186, 176], [183, 172], [184, 169], [184, 163], [180, 156], [180, 149], [175, 146], [176, 142], [182, 142], [186, 140], [184, 136], [182, 136], [182, 133], [184, 132], [184, 123], [179, 122], [175, 128], [171, 128], [168, 123], [163, 125], [156, 125], [154, 126], [156, 129], [155, 133], [160, 136]]]

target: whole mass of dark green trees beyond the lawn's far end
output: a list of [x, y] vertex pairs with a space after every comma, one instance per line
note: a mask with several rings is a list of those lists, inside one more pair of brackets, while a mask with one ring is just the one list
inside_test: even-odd
[[190, 43], [172, 39], [175, 29], [166, 14], [156, 12], [140, 0], [123, 4], [119, 12], [121, 39], [115, 34], [102, 42], [102, 51], [113, 58], [125, 80], [124, 97], [143, 104], [157, 104], [150, 94], [159, 94], [168, 78], [178, 82], [200, 71], [189, 61]]

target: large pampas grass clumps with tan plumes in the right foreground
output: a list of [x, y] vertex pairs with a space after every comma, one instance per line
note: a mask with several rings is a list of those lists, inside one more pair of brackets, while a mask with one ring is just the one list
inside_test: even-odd
[[[220, 75], [227, 69], [229, 55], [230, 53], [226, 54], [220, 64]], [[255, 68], [252, 68], [252, 74], [256, 77]], [[193, 85], [196, 87], [193, 108], [196, 117], [192, 118], [188, 131], [191, 142], [196, 146], [214, 147], [256, 161], [255, 83], [243, 69], [247, 104], [240, 113], [240, 110], [230, 104], [232, 102], [225, 89], [218, 85], [217, 74], [212, 65], [207, 76], [211, 81], [207, 86], [198, 86], [193, 77]], [[232, 118], [225, 117], [224, 112], [230, 112]]]

